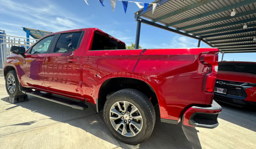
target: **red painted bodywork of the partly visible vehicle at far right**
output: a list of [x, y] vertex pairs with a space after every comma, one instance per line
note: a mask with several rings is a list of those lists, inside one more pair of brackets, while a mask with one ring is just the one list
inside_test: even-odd
[[[251, 62], [247, 62], [247, 63], [251, 63]], [[231, 71], [218, 71], [217, 79], [235, 81], [235, 82], [256, 83], [256, 74], [231, 72]], [[244, 99], [245, 101], [256, 102], [256, 87], [245, 89], [245, 92], [247, 94], [247, 97]]]

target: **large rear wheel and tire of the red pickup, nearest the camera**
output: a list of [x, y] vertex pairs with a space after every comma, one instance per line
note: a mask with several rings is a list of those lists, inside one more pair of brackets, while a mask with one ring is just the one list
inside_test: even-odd
[[104, 120], [119, 140], [137, 145], [151, 135], [156, 114], [146, 95], [138, 90], [123, 89], [112, 94], [104, 105]]

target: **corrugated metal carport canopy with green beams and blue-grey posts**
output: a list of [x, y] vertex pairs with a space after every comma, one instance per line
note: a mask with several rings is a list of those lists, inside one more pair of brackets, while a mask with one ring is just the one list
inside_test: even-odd
[[[222, 53], [256, 52], [256, 0], [156, 0], [135, 12], [139, 47], [141, 22], [185, 35]], [[235, 9], [235, 16], [231, 12]], [[145, 19], [144, 19], [145, 18]], [[243, 28], [247, 23], [247, 28]], [[256, 38], [255, 38], [256, 39]]]

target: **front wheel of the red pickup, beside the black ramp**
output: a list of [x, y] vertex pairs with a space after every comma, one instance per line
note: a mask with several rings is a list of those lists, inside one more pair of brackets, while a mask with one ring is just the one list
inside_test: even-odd
[[9, 96], [24, 95], [19, 88], [19, 80], [15, 70], [10, 70], [5, 77], [5, 88]]

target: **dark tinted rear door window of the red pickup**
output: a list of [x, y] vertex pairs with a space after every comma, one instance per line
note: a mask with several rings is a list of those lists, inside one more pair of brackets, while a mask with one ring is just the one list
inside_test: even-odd
[[54, 49], [55, 53], [69, 52], [77, 49], [82, 32], [61, 34]]

